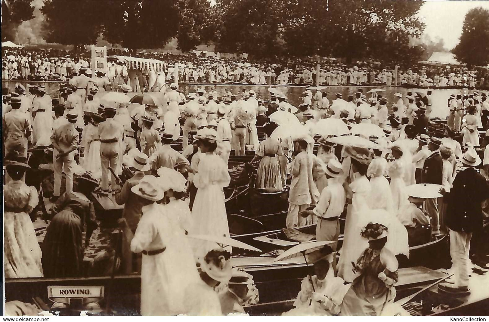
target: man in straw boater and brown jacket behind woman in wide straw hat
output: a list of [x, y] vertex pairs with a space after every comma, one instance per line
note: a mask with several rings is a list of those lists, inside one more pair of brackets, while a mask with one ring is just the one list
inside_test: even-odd
[[[144, 178], [145, 172], [150, 169], [148, 157], [144, 153], [138, 153], [134, 156], [131, 167], [135, 170], [133, 177], [128, 179], [122, 188], [115, 190], [114, 199], [117, 205], [124, 205], [124, 209], [122, 210], [122, 218], [126, 219], [127, 228], [129, 228], [132, 234], [134, 234], [136, 232], [139, 219], [142, 215], [142, 207], [151, 203], [147, 199], [140, 198], [131, 191], [133, 186], [139, 184], [141, 179]], [[124, 229], [126, 229], [126, 227], [124, 227]], [[128, 235], [131, 234], [124, 233], [124, 236]], [[124, 242], [122, 243], [122, 267], [125, 274], [140, 272], [137, 267], [133, 267], [134, 256], [133, 253], [131, 253], [131, 240], [132, 238], [124, 238]], [[140, 266], [140, 263], [138, 264], [138, 266]]]

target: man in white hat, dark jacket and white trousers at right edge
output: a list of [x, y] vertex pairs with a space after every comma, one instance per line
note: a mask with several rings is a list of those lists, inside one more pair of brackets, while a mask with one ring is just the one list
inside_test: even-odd
[[450, 256], [455, 275], [440, 284], [441, 291], [457, 296], [467, 295], [469, 273], [469, 249], [472, 233], [482, 229], [483, 213], [481, 203], [489, 196], [489, 185], [476, 167], [481, 159], [474, 148], [469, 148], [462, 157], [465, 169], [460, 171], [452, 183], [450, 192], [444, 188], [446, 225], [450, 231]]

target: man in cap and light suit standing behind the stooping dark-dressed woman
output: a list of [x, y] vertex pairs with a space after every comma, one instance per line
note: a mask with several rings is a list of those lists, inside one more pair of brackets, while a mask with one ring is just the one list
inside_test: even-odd
[[54, 192], [53, 198], [57, 199], [61, 192], [61, 177], [65, 173], [66, 191], [73, 191], [73, 164], [75, 151], [78, 147], [78, 131], [75, 123], [78, 115], [74, 111], [67, 114], [68, 123], [54, 129], [51, 136], [53, 151]]

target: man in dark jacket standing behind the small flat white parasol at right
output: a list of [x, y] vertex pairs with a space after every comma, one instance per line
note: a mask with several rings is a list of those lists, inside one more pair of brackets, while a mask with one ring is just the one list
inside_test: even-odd
[[[428, 143], [428, 150], [431, 155], [424, 160], [421, 172], [422, 184], [442, 184], [443, 180], [443, 159], [440, 155], [440, 145], [442, 140], [431, 137]], [[431, 218], [433, 233], [440, 233], [440, 215], [438, 212], [437, 198], [426, 199], [426, 211]]]

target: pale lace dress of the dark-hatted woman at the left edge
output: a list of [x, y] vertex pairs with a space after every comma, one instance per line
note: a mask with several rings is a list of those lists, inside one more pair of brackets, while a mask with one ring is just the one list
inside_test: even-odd
[[5, 184], [3, 198], [5, 278], [42, 277], [42, 253], [28, 214], [39, 202], [37, 191], [22, 180], [12, 180]]

